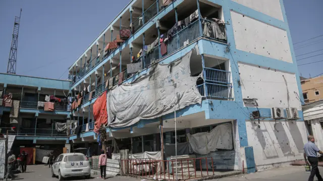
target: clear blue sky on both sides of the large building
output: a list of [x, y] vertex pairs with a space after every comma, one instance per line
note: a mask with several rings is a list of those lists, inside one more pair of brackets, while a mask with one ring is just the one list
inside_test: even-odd
[[[130, 0], [1, 0], [0, 72], [7, 72], [15, 16], [19, 30], [18, 75], [67, 79], [68, 68]], [[306, 2], [306, 3], [304, 3]], [[323, 1], [284, 0], [296, 59], [323, 53]], [[295, 44], [296, 43], [296, 44]], [[316, 51], [320, 50], [320, 51]], [[316, 51], [313, 53], [309, 53]], [[309, 53], [306, 55], [301, 55]], [[299, 56], [300, 55], [300, 56]], [[298, 65], [323, 60], [323, 54], [297, 61]], [[323, 73], [323, 62], [298, 66], [303, 77]]]

